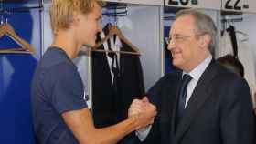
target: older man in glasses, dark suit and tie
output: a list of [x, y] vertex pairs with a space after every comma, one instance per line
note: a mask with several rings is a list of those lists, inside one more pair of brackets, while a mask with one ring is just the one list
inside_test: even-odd
[[[179, 70], [162, 77], [148, 92], [156, 105], [155, 122], [139, 130], [144, 143], [251, 144], [250, 89], [242, 77], [221, 67], [211, 54], [213, 20], [194, 9], [181, 10], [171, 26], [168, 49]], [[130, 113], [140, 112], [134, 100]]]

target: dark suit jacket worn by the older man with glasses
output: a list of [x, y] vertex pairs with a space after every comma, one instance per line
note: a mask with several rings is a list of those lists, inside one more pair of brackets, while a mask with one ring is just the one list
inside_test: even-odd
[[212, 61], [197, 82], [175, 131], [181, 72], [162, 77], [149, 92], [157, 117], [144, 143], [251, 144], [253, 116], [247, 82]]

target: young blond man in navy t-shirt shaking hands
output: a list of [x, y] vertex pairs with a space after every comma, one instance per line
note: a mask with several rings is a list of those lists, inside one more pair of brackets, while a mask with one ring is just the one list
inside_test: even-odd
[[50, 18], [54, 41], [37, 65], [31, 88], [38, 143], [111, 144], [151, 123], [156, 111], [147, 102], [139, 115], [108, 128], [94, 127], [71, 59], [81, 46], [95, 45], [95, 35], [101, 31], [101, 5], [96, 0], [52, 0]]

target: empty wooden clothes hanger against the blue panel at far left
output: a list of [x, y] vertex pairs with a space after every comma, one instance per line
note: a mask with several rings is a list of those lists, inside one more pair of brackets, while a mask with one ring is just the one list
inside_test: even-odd
[[16, 32], [8, 23], [0, 25], [0, 37], [9, 36], [16, 41], [20, 48], [11, 48], [11, 49], [0, 49], [0, 53], [14, 53], [14, 54], [34, 54], [36, 52], [35, 48], [31, 46], [26, 40], [16, 35]]

